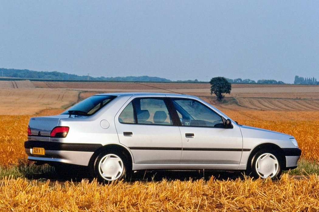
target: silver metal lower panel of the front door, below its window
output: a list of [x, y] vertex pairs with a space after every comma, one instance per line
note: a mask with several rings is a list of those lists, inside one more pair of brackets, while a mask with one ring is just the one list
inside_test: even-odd
[[[237, 164], [241, 161], [240, 127], [233, 129], [180, 126], [184, 164]], [[194, 134], [194, 137], [187, 136]], [[238, 166], [237, 166], [238, 167]]]

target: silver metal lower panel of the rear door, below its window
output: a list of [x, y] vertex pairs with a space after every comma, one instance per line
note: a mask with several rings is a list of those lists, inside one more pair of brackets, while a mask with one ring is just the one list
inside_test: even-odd
[[[179, 163], [182, 139], [178, 126], [116, 124], [120, 143], [134, 156], [134, 163]], [[132, 136], [123, 135], [132, 132]]]

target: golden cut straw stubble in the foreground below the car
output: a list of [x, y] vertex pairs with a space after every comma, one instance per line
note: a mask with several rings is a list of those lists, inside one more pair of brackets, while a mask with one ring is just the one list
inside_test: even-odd
[[319, 177], [296, 180], [39, 183], [5, 178], [1, 211], [317, 211]]

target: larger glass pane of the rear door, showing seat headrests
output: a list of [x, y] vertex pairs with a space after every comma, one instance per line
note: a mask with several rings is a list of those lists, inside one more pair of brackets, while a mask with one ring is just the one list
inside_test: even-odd
[[137, 124], [173, 124], [163, 99], [138, 98], [134, 100], [134, 106]]

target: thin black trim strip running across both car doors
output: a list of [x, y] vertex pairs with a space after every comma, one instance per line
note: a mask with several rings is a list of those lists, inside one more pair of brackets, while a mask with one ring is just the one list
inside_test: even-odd
[[129, 147], [130, 150], [178, 150], [178, 151], [224, 151], [224, 152], [249, 152], [251, 149], [227, 148], [179, 148], [179, 147]]

